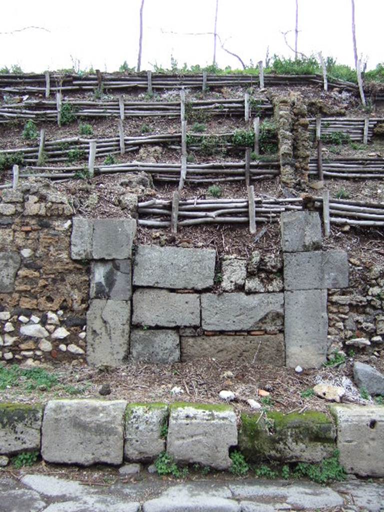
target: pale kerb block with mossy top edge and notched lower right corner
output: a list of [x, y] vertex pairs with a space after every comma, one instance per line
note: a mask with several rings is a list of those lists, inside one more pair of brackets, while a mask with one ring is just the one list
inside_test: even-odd
[[226, 470], [231, 465], [229, 447], [237, 443], [236, 414], [231, 408], [173, 404], [168, 423], [167, 452], [176, 462]]

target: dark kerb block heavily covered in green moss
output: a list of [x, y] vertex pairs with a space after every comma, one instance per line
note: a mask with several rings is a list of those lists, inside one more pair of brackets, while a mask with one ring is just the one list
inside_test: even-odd
[[326, 414], [317, 411], [268, 412], [261, 419], [260, 413], [243, 413], [239, 448], [247, 460], [257, 463], [270, 459], [318, 463], [335, 450], [336, 429]]

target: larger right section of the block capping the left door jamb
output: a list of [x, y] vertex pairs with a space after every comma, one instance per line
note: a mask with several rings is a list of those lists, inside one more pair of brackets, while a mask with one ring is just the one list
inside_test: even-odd
[[92, 258], [94, 260], [131, 258], [135, 234], [134, 219], [94, 219]]

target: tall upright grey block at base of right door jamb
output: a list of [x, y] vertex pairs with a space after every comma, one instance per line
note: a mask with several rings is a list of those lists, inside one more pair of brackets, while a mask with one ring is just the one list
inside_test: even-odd
[[327, 358], [327, 290], [287, 291], [284, 298], [286, 365], [321, 367]]

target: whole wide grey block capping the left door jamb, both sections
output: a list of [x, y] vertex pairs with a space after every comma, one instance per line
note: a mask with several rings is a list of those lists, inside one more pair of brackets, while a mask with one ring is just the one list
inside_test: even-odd
[[136, 234], [134, 219], [73, 218], [73, 260], [124, 260], [132, 256]]

